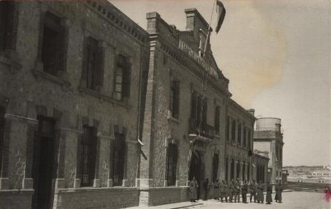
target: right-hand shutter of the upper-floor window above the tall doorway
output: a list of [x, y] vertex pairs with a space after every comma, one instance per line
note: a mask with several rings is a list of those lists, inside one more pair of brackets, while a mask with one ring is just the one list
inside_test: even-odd
[[56, 57], [56, 70], [66, 71], [66, 54], [68, 51], [68, 28], [62, 26], [57, 36], [57, 57]]

